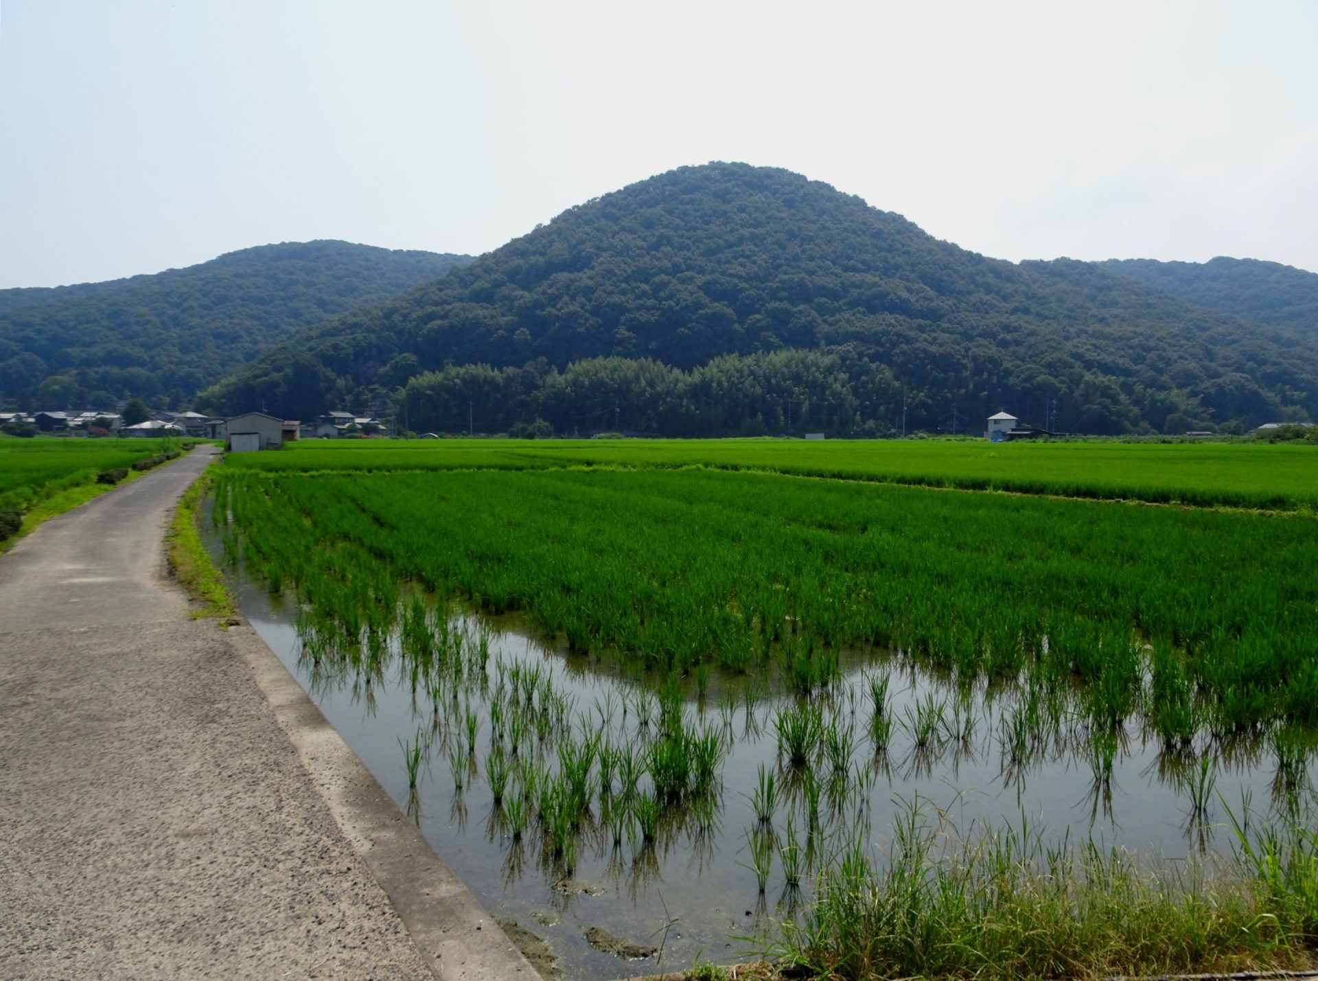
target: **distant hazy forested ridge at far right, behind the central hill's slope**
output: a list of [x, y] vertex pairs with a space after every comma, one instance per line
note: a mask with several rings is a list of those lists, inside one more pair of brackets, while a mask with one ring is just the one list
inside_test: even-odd
[[1112, 258], [1103, 265], [1197, 306], [1318, 338], [1318, 273], [1226, 256], [1207, 262]]

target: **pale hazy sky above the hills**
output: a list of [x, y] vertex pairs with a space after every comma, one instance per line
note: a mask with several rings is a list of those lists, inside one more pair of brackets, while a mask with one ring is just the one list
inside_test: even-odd
[[0, 3], [0, 286], [478, 253], [710, 160], [1003, 258], [1318, 270], [1318, 3]]

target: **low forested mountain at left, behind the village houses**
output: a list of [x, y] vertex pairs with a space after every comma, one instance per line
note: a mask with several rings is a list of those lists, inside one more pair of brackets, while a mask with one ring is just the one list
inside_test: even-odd
[[0, 290], [0, 400], [41, 409], [159, 406], [293, 331], [471, 261], [345, 241], [285, 243], [112, 282]]

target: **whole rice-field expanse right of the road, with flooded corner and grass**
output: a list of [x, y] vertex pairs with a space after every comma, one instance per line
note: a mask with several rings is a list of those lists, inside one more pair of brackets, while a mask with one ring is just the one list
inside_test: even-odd
[[211, 530], [327, 717], [571, 977], [1294, 968], [1314, 459], [310, 443], [227, 458]]

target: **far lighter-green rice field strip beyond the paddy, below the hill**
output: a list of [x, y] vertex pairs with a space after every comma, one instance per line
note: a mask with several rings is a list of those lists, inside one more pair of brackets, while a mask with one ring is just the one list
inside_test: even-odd
[[1268, 443], [339, 440], [245, 454], [225, 465], [297, 472], [702, 465], [1157, 504], [1318, 508], [1318, 447]]

